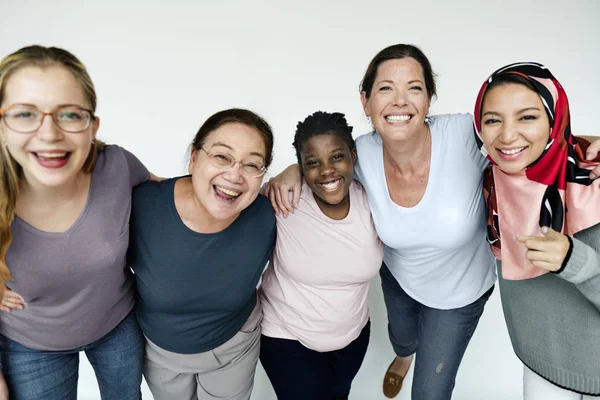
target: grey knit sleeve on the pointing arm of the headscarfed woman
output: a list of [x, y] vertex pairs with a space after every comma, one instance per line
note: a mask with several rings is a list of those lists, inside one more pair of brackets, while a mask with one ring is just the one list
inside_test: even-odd
[[600, 224], [575, 235], [569, 261], [556, 276], [573, 283], [600, 311]]

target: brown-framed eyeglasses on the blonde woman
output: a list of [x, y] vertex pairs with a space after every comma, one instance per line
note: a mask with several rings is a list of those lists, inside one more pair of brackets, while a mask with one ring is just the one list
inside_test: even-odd
[[91, 110], [79, 106], [62, 106], [49, 113], [27, 104], [13, 104], [0, 109], [0, 118], [6, 126], [19, 133], [37, 131], [42, 126], [46, 115], [52, 117], [56, 127], [70, 133], [83, 132], [96, 119]]

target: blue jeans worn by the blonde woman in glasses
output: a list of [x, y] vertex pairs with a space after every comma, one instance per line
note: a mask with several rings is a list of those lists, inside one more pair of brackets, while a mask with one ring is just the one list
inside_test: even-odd
[[0, 336], [12, 400], [76, 400], [79, 352], [94, 368], [102, 400], [140, 400], [144, 336], [132, 312], [97, 341], [72, 350], [34, 350]]

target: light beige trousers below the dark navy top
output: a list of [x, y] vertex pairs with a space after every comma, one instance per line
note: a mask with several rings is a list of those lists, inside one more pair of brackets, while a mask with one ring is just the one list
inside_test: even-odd
[[248, 400], [260, 350], [260, 305], [224, 344], [199, 354], [161, 349], [146, 338], [144, 378], [155, 400]]

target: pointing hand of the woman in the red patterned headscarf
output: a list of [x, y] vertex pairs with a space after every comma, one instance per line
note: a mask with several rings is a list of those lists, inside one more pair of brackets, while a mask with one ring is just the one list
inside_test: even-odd
[[558, 271], [569, 252], [571, 243], [562, 233], [542, 227], [544, 236], [515, 236], [517, 242], [527, 247], [527, 259], [533, 265], [548, 271]]

